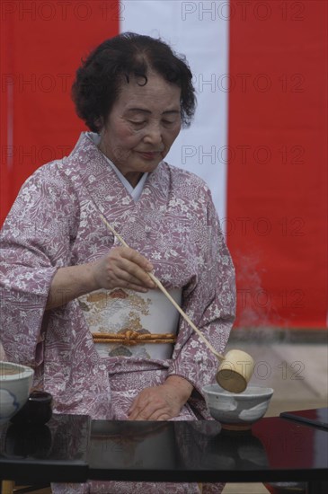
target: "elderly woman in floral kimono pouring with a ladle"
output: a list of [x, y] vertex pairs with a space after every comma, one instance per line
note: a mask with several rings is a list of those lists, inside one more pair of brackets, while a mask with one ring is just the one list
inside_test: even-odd
[[[73, 85], [91, 132], [26, 181], [5, 221], [1, 340], [8, 359], [35, 368], [35, 386], [53, 394], [57, 412], [209, 419], [202, 387], [215, 380], [217, 358], [147, 274], [223, 352], [235, 316], [233, 264], [208, 186], [164, 162], [194, 114], [191, 77], [161, 40], [104, 41]], [[119, 483], [55, 491], [129, 489], [199, 491]]]

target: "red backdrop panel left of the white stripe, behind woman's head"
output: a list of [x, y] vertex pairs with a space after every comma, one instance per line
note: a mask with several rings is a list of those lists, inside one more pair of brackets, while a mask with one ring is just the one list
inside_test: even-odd
[[70, 98], [75, 70], [90, 49], [119, 32], [120, 11], [116, 0], [0, 7], [3, 222], [22, 182], [69, 153], [84, 130]]

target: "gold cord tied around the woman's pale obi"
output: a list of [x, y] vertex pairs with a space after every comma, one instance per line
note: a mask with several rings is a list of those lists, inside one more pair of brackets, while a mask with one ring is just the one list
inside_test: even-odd
[[175, 343], [176, 337], [172, 333], [140, 333], [125, 331], [124, 333], [93, 332], [94, 343], [120, 343], [121, 345], [138, 345], [140, 343]]

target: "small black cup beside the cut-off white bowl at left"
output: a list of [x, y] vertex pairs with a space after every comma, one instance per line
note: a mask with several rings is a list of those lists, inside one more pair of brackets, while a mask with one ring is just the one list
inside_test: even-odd
[[24, 406], [10, 421], [13, 424], [43, 425], [52, 417], [52, 395], [45, 391], [33, 391]]

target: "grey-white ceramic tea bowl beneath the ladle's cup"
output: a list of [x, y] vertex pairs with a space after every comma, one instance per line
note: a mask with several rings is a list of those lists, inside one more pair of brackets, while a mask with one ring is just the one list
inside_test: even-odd
[[248, 385], [243, 393], [230, 393], [218, 384], [203, 387], [208, 411], [222, 428], [246, 430], [265, 415], [272, 388]]

